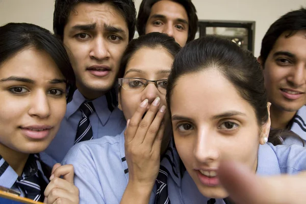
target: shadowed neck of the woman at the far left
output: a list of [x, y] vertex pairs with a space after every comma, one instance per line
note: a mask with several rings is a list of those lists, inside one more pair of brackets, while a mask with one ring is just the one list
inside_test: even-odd
[[30, 154], [15, 151], [0, 143], [0, 155], [21, 176]]

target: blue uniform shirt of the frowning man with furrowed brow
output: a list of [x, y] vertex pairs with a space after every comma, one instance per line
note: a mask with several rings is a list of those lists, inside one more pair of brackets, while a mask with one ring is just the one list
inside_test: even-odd
[[[79, 110], [85, 101], [79, 90], [73, 94], [73, 98], [67, 105], [65, 117], [61, 123], [60, 130], [48, 148], [41, 152], [41, 160], [49, 166], [62, 162], [68, 150], [73, 146], [78, 125], [82, 117]], [[93, 139], [104, 135], [115, 136], [120, 134], [126, 125], [121, 110], [117, 108], [116, 93], [114, 90], [92, 100], [95, 112], [89, 116], [92, 127]]]

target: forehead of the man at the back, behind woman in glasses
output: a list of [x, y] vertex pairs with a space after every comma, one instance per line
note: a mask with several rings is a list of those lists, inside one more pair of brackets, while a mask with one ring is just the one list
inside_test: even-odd
[[188, 21], [188, 15], [183, 5], [168, 0], [159, 1], [152, 6], [150, 16], [155, 14], [164, 15], [169, 19], [182, 18]]

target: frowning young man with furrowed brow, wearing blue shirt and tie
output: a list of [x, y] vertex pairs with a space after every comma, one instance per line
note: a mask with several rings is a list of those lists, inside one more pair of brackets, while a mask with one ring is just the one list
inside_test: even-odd
[[41, 154], [48, 165], [61, 162], [76, 143], [124, 129], [113, 86], [135, 22], [133, 0], [55, 1], [54, 33], [66, 47], [78, 89], [56, 138]]

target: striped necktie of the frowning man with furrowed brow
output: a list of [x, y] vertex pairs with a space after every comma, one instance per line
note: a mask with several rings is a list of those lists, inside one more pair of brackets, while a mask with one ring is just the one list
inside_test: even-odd
[[89, 116], [95, 111], [91, 101], [84, 101], [80, 106], [82, 118], [78, 125], [77, 135], [75, 135], [74, 144], [92, 139], [92, 128]]

